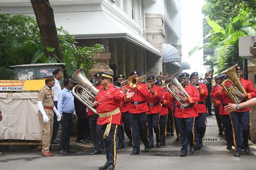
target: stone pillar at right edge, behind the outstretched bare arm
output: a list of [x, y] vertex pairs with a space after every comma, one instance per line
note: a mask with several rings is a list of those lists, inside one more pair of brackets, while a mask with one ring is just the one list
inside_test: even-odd
[[[256, 47], [250, 47], [250, 53], [255, 57], [252, 62], [248, 65], [248, 79], [252, 82], [254, 88], [255, 86], [255, 75], [256, 75]], [[250, 126], [251, 126], [251, 141], [256, 142], [256, 111], [255, 107], [251, 107], [250, 113]]]

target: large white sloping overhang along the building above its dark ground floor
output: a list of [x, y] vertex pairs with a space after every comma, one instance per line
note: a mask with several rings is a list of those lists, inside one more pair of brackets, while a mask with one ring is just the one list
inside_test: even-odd
[[55, 19], [57, 27], [62, 26], [71, 35], [75, 35], [76, 39], [125, 38], [157, 56], [162, 56], [138, 31], [135, 32], [134, 28], [129, 28], [104, 11], [54, 13], [54, 18], [58, 18]]

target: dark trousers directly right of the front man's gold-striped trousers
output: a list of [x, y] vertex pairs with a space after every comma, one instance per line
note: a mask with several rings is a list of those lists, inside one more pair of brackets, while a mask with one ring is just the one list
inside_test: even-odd
[[123, 125], [118, 126], [118, 145], [124, 146], [124, 132], [129, 138], [130, 142], [132, 141], [132, 131], [129, 123], [130, 113], [122, 113], [122, 122]]

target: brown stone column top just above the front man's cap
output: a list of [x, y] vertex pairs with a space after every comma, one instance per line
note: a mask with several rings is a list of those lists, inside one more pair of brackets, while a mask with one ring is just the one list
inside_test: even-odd
[[89, 77], [92, 79], [93, 75], [97, 72], [106, 71], [113, 74], [113, 70], [109, 67], [110, 53], [97, 53], [92, 55], [93, 61], [96, 62], [92, 69], [89, 70]]

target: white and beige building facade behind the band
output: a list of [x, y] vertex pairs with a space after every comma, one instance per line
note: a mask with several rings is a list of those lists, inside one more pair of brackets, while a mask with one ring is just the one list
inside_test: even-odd
[[[158, 75], [163, 71], [163, 43], [175, 46], [181, 55], [178, 0], [54, 0], [50, 3], [57, 27], [75, 35], [79, 46], [96, 43], [105, 46], [111, 55], [107, 64], [115, 74], [128, 77], [132, 70], [138, 69], [142, 74]], [[34, 16], [29, 0], [3, 0], [0, 13]], [[179, 71], [179, 64], [171, 64], [169, 68]]]

